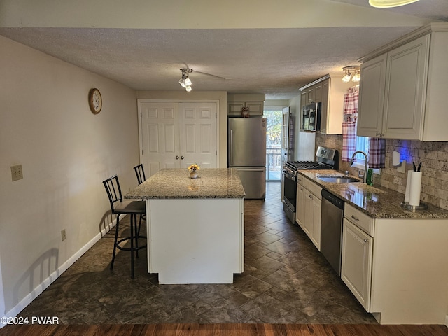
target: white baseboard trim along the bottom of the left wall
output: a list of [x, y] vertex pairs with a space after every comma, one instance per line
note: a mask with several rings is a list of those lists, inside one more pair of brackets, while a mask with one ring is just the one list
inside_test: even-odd
[[[104, 235], [106, 235], [111, 228], [113, 228], [116, 225], [116, 220], [113, 220], [111, 223], [105, 225], [105, 228], [101, 230], [97, 235], [95, 235], [90, 241], [87, 242], [83, 247], [81, 247], [78, 252], [73, 254], [69, 260], [64, 262], [62, 265], [60, 265], [55, 272], [52, 272], [50, 276], [48, 276], [47, 279], [44, 279], [34, 290], [31, 291], [27, 296], [25, 296], [13, 309], [10, 309], [10, 311], [6, 312], [6, 317], [15, 317], [17, 316], [20, 311], [25, 309], [28, 304], [33, 302], [33, 300], [40, 295], [43, 290], [47, 289], [48, 286], [50, 286], [55, 280], [64, 273], [71, 265], [73, 265], [76, 260], [78, 260], [85, 252], [87, 252], [92, 246], [94, 246], [99, 239], [102, 239]], [[0, 328], [3, 328], [6, 324], [0, 323]]]

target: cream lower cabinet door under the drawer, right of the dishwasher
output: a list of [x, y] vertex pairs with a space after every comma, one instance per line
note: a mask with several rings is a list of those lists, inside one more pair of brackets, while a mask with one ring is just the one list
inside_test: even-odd
[[370, 311], [373, 238], [344, 218], [342, 230], [342, 281], [360, 304]]

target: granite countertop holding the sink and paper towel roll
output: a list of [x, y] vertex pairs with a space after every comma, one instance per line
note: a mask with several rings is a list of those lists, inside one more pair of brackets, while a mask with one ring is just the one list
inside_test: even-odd
[[[448, 211], [428, 204], [427, 210], [408, 211], [400, 206], [405, 195], [381, 186], [367, 186], [363, 182], [328, 183], [318, 179], [318, 175], [344, 175], [343, 172], [329, 170], [298, 170], [299, 174], [311, 179], [323, 189], [342, 198], [373, 218], [448, 218]], [[355, 177], [356, 176], [351, 176]]]

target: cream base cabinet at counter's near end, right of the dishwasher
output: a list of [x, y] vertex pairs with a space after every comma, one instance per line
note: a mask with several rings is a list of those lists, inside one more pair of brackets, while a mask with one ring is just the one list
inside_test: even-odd
[[444, 324], [448, 219], [371, 218], [345, 203], [341, 278], [381, 324]]

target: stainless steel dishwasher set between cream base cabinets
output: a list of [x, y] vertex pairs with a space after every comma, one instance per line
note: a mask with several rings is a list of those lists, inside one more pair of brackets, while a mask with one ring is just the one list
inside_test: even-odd
[[342, 221], [344, 201], [322, 189], [321, 253], [341, 275]]

